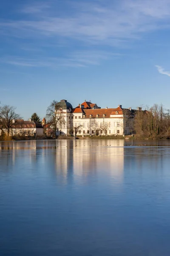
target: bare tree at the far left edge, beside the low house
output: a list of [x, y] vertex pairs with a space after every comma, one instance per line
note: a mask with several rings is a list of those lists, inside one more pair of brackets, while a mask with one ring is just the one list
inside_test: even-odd
[[10, 105], [3, 105], [0, 107], [0, 124], [2, 130], [7, 131], [9, 136], [11, 128], [17, 125], [18, 119], [21, 119], [20, 115], [15, 113], [15, 107]]

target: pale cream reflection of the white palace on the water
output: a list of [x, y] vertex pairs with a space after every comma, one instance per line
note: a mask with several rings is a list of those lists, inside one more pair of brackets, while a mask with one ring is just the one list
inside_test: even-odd
[[83, 177], [85, 182], [98, 172], [122, 179], [124, 140], [62, 140], [57, 145], [56, 171], [67, 181]]

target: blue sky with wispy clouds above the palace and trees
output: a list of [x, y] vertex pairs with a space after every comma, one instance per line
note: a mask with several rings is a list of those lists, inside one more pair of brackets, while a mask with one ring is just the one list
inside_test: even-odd
[[24, 119], [73, 107], [170, 109], [170, 0], [6, 0], [0, 102]]

